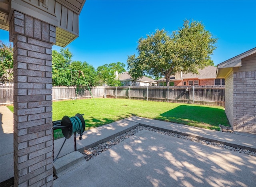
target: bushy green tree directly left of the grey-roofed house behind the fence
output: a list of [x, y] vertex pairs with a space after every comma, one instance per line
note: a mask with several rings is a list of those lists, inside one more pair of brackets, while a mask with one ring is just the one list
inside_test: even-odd
[[121, 62], [110, 63], [99, 66], [97, 68], [97, 79], [98, 85], [108, 85], [108, 86], [120, 86], [120, 81], [116, 78], [115, 72], [123, 73], [126, 70], [124, 69], [125, 64]]

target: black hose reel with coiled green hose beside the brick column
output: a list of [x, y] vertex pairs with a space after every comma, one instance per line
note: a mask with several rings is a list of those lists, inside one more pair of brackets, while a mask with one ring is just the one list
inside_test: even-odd
[[[82, 140], [82, 135], [85, 129], [84, 114], [76, 114], [75, 116], [69, 118], [68, 116], [63, 116], [62, 120], [52, 122], [52, 159], [53, 162], [58, 158], [60, 151], [62, 150], [66, 140], [74, 134], [74, 151], [76, 151], [76, 133], [80, 134], [79, 140]], [[54, 159], [54, 130], [61, 129], [65, 140], [58, 152], [56, 158]]]

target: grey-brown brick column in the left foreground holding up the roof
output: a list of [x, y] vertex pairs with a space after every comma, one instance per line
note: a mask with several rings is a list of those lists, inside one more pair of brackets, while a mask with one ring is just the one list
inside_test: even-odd
[[52, 45], [56, 28], [14, 11], [14, 186], [52, 186]]

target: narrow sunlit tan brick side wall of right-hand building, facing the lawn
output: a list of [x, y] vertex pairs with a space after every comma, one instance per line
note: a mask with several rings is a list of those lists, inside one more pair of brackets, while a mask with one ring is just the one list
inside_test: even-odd
[[225, 112], [230, 125], [233, 127], [234, 103], [233, 103], [233, 71], [225, 78]]

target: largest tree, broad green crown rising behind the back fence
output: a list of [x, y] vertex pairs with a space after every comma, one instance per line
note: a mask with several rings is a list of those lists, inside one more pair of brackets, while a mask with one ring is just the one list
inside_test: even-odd
[[129, 74], [134, 80], [149, 74], [164, 76], [169, 85], [170, 76], [183, 73], [198, 74], [198, 69], [212, 65], [211, 55], [217, 39], [204, 29], [201, 22], [184, 21], [183, 27], [168, 35], [166, 30], [140, 38], [138, 56], [128, 56]]

